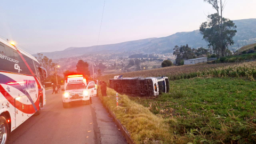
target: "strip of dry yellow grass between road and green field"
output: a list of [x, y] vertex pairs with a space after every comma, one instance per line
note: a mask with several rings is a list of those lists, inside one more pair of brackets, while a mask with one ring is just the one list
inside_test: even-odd
[[102, 97], [100, 94], [103, 105], [113, 111], [135, 143], [173, 142], [173, 132], [167, 122], [175, 122], [175, 119], [166, 121], [166, 119], [151, 113], [148, 108], [130, 100], [127, 95], [118, 94], [119, 106], [117, 107], [116, 91], [108, 88], [107, 95], [107, 97]]

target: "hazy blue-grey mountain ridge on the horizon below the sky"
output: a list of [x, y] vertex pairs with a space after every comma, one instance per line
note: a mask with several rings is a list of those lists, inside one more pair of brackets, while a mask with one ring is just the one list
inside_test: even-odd
[[[234, 22], [237, 26], [237, 33], [234, 37], [235, 43], [246, 45], [253, 43], [254, 40], [256, 41], [256, 19], [234, 20]], [[63, 51], [43, 52], [42, 54], [51, 59], [59, 59], [83, 54], [117, 53], [135, 50], [145, 53], [172, 53], [175, 45], [188, 44], [193, 48], [207, 47], [206, 41], [202, 40], [202, 38], [203, 36], [199, 33], [199, 30], [194, 30], [176, 33], [167, 37], [140, 39], [118, 44], [99, 45], [98, 47], [69, 47]]]

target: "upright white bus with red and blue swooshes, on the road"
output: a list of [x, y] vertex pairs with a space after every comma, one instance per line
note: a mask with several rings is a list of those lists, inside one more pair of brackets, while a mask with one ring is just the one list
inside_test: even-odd
[[0, 143], [45, 105], [46, 70], [36, 58], [0, 38]]

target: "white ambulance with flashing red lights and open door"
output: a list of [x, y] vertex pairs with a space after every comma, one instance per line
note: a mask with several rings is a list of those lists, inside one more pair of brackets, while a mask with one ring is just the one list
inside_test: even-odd
[[73, 101], [82, 101], [84, 105], [90, 105], [91, 97], [97, 95], [95, 83], [93, 81], [86, 82], [83, 75], [68, 75], [62, 91], [64, 91], [62, 95], [63, 108], [67, 108]]

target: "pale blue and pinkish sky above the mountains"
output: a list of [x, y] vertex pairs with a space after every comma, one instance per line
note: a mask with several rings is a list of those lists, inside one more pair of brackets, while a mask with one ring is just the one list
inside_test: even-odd
[[[256, 0], [226, 0], [223, 17], [256, 18]], [[0, 0], [0, 37], [30, 54], [165, 37], [199, 29], [215, 13], [203, 0]]]

